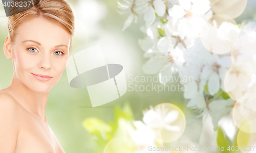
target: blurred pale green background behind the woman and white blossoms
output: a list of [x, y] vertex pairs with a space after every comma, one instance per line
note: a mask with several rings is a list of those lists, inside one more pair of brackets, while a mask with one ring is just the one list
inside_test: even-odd
[[[115, 0], [76, 0], [68, 1], [76, 16], [76, 29], [73, 38], [72, 54], [94, 46], [100, 45], [106, 63], [123, 65], [126, 80], [129, 75], [147, 76], [142, 72], [142, 65], [147, 60], [143, 58], [143, 50], [138, 44], [138, 39], [145, 35], [140, 31], [144, 25], [143, 16], [138, 17], [138, 23], [132, 24], [125, 31], [121, 31], [128, 14], [120, 15]], [[242, 20], [256, 20], [256, 1], [248, 1], [245, 12], [238, 18]], [[3, 13], [3, 10], [0, 10]], [[0, 89], [6, 88], [12, 79], [12, 60], [8, 60], [3, 53], [3, 44], [7, 32], [7, 17], [0, 18]], [[156, 76], [156, 75], [155, 75]], [[127, 82], [131, 83], [131, 82]], [[151, 85], [152, 82], [133, 82], [137, 85]], [[154, 83], [160, 85], [160, 83]], [[177, 82], [167, 85], [177, 85]], [[129, 90], [129, 88], [128, 88]], [[100, 95], [99, 95], [100, 96]], [[135, 120], [142, 119], [141, 110], [150, 105], [169, 102], [176, 104], [181, 109], [184, 107], [183, 92], [129, 92], [121, 98], [92, 108], [87, 89], [71, 88], [68, 83], [67, 73], [63, 72], [61, 79], [50, 91], [46, 117], [63, 149], [69, 152], [92, 152], [96, 146], [92, 136], [82, 127], [82, 121], [88, 117], [97, 117], [105, 122], [113, 122], [114, 106], [129, 102]]]

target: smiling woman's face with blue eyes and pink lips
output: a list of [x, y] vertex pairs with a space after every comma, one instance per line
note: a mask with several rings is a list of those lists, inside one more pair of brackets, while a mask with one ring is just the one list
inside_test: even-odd
[[44, 18], [21, 24], [11, 46], [17, 78], [32, 91], [49, 92], [66, 68], [71, 37], [62, 27]]

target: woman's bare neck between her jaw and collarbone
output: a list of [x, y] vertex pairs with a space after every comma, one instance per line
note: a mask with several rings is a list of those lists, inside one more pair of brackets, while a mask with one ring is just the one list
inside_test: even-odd
[[29, 113], [39, 115], [44, 122], [47, 122], [45, 110], [49, 92], [37, 93], [30, 90], [15, 74], [7, 90]]

